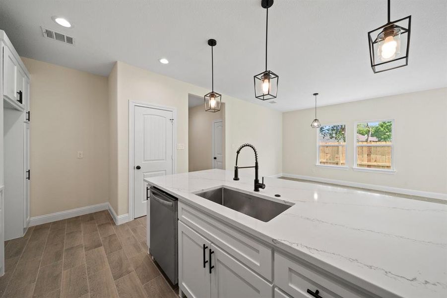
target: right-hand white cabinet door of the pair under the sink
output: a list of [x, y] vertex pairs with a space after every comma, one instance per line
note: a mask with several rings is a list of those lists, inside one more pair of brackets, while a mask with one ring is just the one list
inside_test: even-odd
[[271, 298], [272, 285], [211, 244], [211, 298]]

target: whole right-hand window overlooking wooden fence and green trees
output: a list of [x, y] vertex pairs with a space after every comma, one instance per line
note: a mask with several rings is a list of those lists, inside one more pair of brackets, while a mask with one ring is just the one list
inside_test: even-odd
[[356, 123], [354, 169], [394, 172], [392, 137], [393, 120]]

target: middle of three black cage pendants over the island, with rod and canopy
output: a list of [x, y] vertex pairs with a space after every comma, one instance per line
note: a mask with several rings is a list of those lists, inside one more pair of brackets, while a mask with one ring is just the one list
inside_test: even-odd
[[267, 29], [268, 8], [273, 5], [273, 0], [261, 0], [261, 6], [267, 10], [265, 22], [265, 71], [255, 75], [255, 97], [260, 100], [276, 98], [278, 92], [278, 75], [267, 70]]

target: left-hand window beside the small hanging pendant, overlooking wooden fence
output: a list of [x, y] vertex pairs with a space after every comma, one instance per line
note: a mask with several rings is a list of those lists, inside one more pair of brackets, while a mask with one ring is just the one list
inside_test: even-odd
[[317, 165], [346, 167], [346, 125], [322, 125], [317, 148]]

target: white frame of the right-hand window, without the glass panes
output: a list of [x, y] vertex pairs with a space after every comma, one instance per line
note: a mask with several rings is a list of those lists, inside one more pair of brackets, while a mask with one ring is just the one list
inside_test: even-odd
[[[391, 122], [391, 144], [357, 144], [357, 125], [360, 123], [371, 123], [371, 122]], [[352, 169], [359, 172], [373, 172], [373, 173], [385, 173], [385, 174], [395, 174], [396, 168], [394, 167], [394, 119], [380, 119], [380, 120], [367, 120], [367, 121], [356, 121], [354, 123], [354, 164]], [[391, 147], [391, 168], [390, 169], [378, 169], [378, 168], [367, 168], [357, 166], [357, 148], [358, 147]]]

